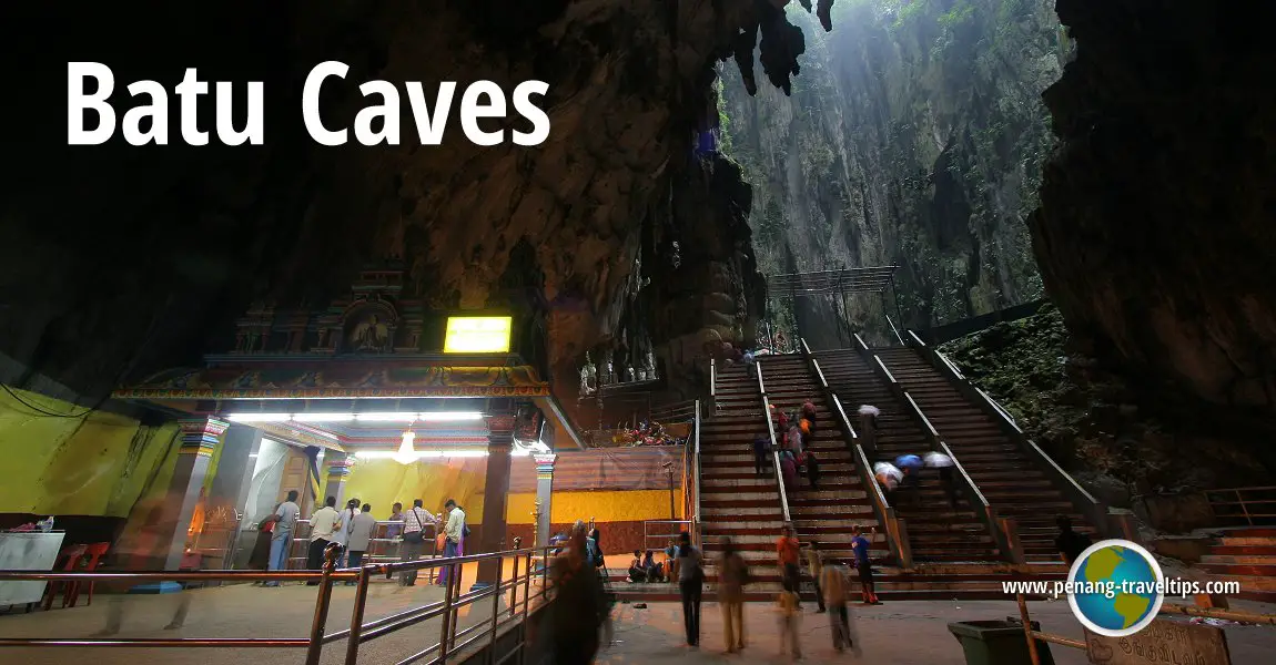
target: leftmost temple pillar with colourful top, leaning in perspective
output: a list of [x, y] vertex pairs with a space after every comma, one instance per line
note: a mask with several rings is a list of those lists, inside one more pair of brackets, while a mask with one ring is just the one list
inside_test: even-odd
[[176, 571], [186, 553], [186, 536], [195, 507], [203, 501], [204, 479], [213, 451], [221, 445], [222, 433], [230, 423], [217, 418], [184, 418], [177, 420], [181, 427], [181, 447], [177, 451], [177, 465], [168, 482], [168, 496], [163, 518], [158, 525], [160, 543], [167, 536], [167, 549], [163, 554], [163, 569]]

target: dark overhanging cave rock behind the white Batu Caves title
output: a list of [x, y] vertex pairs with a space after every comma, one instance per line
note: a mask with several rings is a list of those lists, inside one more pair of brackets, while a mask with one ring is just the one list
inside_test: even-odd
[[[549, 364], [572, 376], [584, 350], [618, 330], [643, 220], [661, 206], [685, 237], [725, 243], [683, 243], [680, 289], [704, 289], [703, 302], [754, 288], [746, 234], [704, 225], [735, 218], [684, 219], [671, 213], [670, 191], [694, 190], [704, 175], [690, 158], [692, 130], [712, 113], [715, 61], [754, 48], [741, 28], [760, 33], [777, 85], [796, 71], [800, 41], [790, 43], [771, 0], [272, 4], [248, 18], [231, 5], [194, 23], [179, 8], [130, 17], [115, 6], [75, 15], [31, 6], [4, 22], [42, 41], [6, 65], [31, 103], [14, 125], [24, 131], [6, 145], [22, 168], [0, 199], [0, 352], [17, 361], [0, 366], [0, 380], [45, 376], [98, 397], [226, 348], [230, 322], [253, 301], [323, 303], [387, 256], [410, 266], [408, 294], [436, 308], [535, 311]], [[143, 34], [157, 24], [168, 29]], [[134, 148], [117, 136], [69, 149], [64, 74], [77, 59], [115, 70], [121, 113], [124, 85], [156, 79], [171, 89], [188, 66], [204, 80], [263, 80], [265, 145]], [[357, 85], [370, 79], [420, 80], [427, 92], [441, 80], [491, 80], [508, 92], [538, 79], [549, 84], [540, 106], [553, 130], [535, 148], [478, 148], [453, 113], [443, 145], [417, 145], [404, 113], [403, 145], [318, 147], [302, 129], [300, 92], [325, 60], [351, 68], [320, 99], [330, 129], [351, 125], [367, 103]], [[176, 135], [176, 98], [172, 106]], [[708, 182], [738, 187], [727, 171], [715, 167]], [[681, 298], [694, 299], [670, 297], [678, 312]], [[726, 302], [703, 311], [715, 310], [732, 320], [750, 311]], [[653, 336], [688, 334], [685, 321], [665, 320], [670, 327]]]

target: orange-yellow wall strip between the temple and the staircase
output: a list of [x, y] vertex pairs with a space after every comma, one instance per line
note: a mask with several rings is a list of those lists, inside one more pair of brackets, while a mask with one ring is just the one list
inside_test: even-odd
[[[680, 497], [674, 496], [674, 511], [681, 518]], [[565, 524], [575, 520], [600, 522], [632, 522], [669, 518], [667, 489], [635, 489], [615, 492], [555, 492], [551, 502], [550, 522]], [[505, 503], [508, 524], [532, 524], [536, 510], [535, 493], [510, 494]]]

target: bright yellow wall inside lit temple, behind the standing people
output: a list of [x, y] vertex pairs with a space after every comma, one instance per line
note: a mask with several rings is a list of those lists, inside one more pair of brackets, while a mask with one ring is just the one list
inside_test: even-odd
[[[388, 459], [357, 460], [346, 479], [346, 498], [373, 504], [373, 515], [389, 517], [390, 506], [412, 507], [421, 499], [433, 513], [443, 511], [445, 501], [456, 499], [470, 524], [482, 524], [482, 488], [487, 460], [424, 460], [403, 465]], [[327, 488], [324, 489], [325, 494]]]

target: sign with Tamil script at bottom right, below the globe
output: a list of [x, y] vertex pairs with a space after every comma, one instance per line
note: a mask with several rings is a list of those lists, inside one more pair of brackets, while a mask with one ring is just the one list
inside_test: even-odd
[[1125, 637], [1087, 629], [1086, 654], [1097, 665], [1231, 665], [1221, 628], [1168, 619]]

